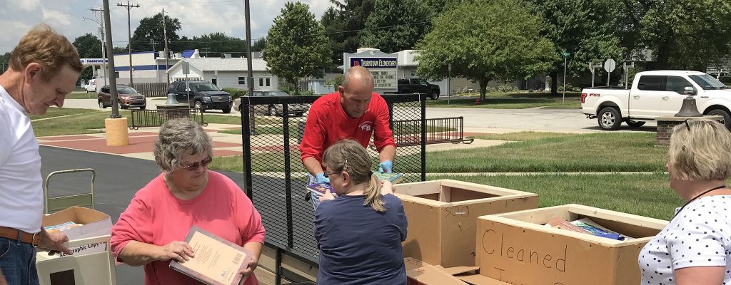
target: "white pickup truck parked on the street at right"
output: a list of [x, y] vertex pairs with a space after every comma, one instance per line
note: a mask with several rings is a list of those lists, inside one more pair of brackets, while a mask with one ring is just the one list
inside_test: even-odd
[[617, 130], [622, 122], [637, 128], [646, 120], [673, 117], [688, 95], [694, 95], [699, 112], [721, 115], [726, 128], [731, 127], [731, 90], [699, 71], [643, 71], [635, 75], [629, 90], [585, 88], [581, 91], [581, 112], [588, 119], [596, 118], [602, 130]]

